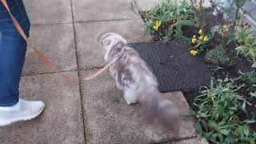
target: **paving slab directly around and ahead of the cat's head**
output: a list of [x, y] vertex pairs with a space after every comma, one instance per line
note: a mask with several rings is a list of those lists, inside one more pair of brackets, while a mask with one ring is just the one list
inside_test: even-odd
[[74, 24], [81, 70], [102, 66], [102, 47], [98, 40], [106, 32], [121, 34], [129, 42], [149, 42], [140, 19], [111, 22], [78, 22]]

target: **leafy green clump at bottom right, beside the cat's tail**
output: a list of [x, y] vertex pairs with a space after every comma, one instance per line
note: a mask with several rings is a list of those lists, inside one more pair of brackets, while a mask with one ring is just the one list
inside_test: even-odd
[[201, 90], [194, 100], [198, 111], [190, 110], [198, 134], [214, 143], [255, 143], [256, 133], [249, 126], [256, 122], [255, 117], [244, 121], [238, 118], [246, 111], [246, 102], [236, 92], [239, 88], [226, 78], [212, 81], [210, 88]]

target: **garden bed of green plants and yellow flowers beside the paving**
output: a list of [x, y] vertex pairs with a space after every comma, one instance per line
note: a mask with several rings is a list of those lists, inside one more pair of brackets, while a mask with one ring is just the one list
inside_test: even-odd
[[[237, 2], [237, 6], [242, 6], [244, 1]], [[226, 22], [222, 15], [214, 16], [213, 12], [213, 8], [204, 9], [200, 3], [177, 5], [167, 1], [141, 14], [146, 33], [155, 42], [191, 43], [187, 53], [210, 70], [208, 76], [212, 80], [208, 78], [208, 86], [181, 89], [198, 134], [213, 143], [254, 143], [256, 40], [249, 33], [250, 26], [238, 24], [237, 13], [233, 21]], [[188, 74], [186, 78], [193, 77]]]

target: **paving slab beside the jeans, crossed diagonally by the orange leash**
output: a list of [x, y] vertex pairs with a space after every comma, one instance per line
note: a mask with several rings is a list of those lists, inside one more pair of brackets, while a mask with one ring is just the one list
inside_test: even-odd
[[26, 53], [23, 74], [49, 73], [49, 69], [34, 54], [31, 47], [49, 58], [59, 70], [77, 70], [72, 24], [31, 26], [30, 42]]

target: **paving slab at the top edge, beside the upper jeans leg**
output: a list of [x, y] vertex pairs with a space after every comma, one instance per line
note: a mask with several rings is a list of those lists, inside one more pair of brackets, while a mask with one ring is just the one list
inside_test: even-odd
[[71, 23], [69, 0], [24, 0], [31, 24]]

